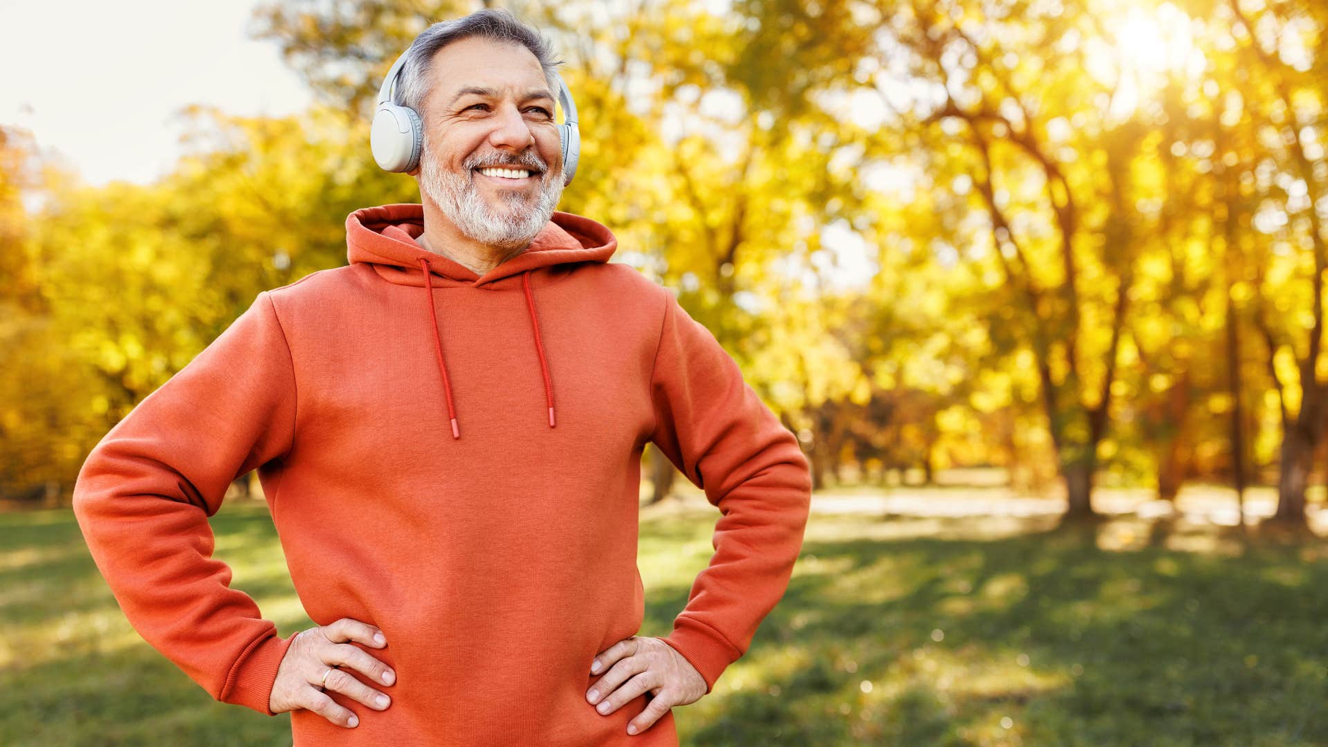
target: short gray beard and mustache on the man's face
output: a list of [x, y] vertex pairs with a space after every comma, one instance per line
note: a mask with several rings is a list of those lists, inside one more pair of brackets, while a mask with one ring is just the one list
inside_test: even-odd
[[[543, 173], [539, 177], [539, 193], [526, 197], [519, 191], [503, 190], [499, 199], [511, 209], [506, 215], [495, 214], [475, 186], [474, 169], [481, 163], [509, 161], [511, 165], [535, 166]], [[438, 167], [429, 156], [429, 138], [424, 138], [420, 153], [420, 189], [442, 210], [457, 229], [483, 245], [502, 250], [526, 249], [543, 230], [554, 215], [554, 207], [563, 195], [563, 173], [551, 173], [543, 161], [533, 152], [515, 160], [494, 156], [471, 154], [466, 158], [463, 173]]]

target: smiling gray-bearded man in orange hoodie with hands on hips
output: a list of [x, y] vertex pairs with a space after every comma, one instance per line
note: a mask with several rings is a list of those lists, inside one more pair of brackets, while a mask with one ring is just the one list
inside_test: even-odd
[[[673, 295], [554, 211], [544, 41], [432, 25], [394, 102], [422, 205], [347, 219], [349, 265], [263, 291], [93, 449], [74, 512], [125, 614], [295, 744], [676, 744], [784, 594], [810, 475]], [[722, 516], [667, 638], [636, 635], [640, 459]], [[280, 638], [207, 522], [259, 471], [317, 627]], [[386, 696], [386, 704], [377, 698]]]

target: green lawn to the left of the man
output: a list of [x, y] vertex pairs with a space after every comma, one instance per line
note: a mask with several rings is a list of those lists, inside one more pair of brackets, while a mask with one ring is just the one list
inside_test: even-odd
[[[227, 506], [211, 524], [232, 587], [260, 609], [293, 597], [266, 506]], [[133, 633], [68, 509], [0, 516], [0, 558], [11, 659], [0, 666], [0, 743], [291, 743], [290, 715], [215, 702]]]

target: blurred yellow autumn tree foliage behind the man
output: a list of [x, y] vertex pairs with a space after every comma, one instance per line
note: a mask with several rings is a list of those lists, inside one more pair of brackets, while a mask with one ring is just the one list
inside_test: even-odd
[[[1109, 374], [1121, 405], [1109, 412], [1130, 416], [1096, 444], [1102, 460], [1154, 459], [1163, 443], [1145, 421], [1173, 417], [1167, 397], [1186, 383], [1185, 417], [1199, 419], [1187, 447], [1220, 461], [1230, 292], [1251, 443], [1274, 455], [1271, 372], [1292, 415], [1313, 391], [1300, 381], [1320, 323], [1307, 218], [1328, 199], [1323, 133], [1303, 126], [1303, 153], [1278, 133], [1292, 116], [1324, 118], [1323, 84], [1296, 49], [1328, 19], [1242, 3], [1251, 35], [1177, 4], [989, 5], [865, 20], [564, 3], [566, 16], [540, 16], [583, 43], [564, 51], [584, 124], [559, 209], [610, 225], [620, 261], [683, 290], [798, 428], [822, 408], [870, 411], [882, 420], [859, 436], [888, 432], [876, 445], [900, 461], [1004, 459], [993, 423], [1020, 424], [1021, 448], [1041, 453], [1045, 423], [1092, 445], [1086, 408]], [[189, 154], [158, 183], [44, 177], [31, 138], [0, 129], [0, 343], [25, 362], [0, 372], [0, 452], [39, 444], [15, 461], [25, 475], [68, 484], [66, 456], [258, 291], [344, 262], [347, 213], [418, 199], [369, 160], [365, 101], [386, 61], [361, 57], [404, 48], [417, 13], [388, 4], [347, 27], [321, 23], [328, 12], [268, 13], [268, 33], [337, 104], [292, 117], [190, 106]], [[959, 37], [973, 29], [980, 54]], [[947, 116], [927, 90], [950, 93]], [[29, 195], [44, 207], [29, 214]], [[837, 267], [859, 242], [863, 257]], [[1328, 380], [1328, 355], [1308, 368]]]

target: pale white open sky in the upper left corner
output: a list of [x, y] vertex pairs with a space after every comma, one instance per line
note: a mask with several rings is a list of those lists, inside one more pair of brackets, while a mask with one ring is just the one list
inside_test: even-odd
[[179, 157], [189, 104], [274, 117], [311, 104], [276, 41], [246, 32], [258, 4], [0, 0], [0, 124], [90, 185], [149, 183]]

